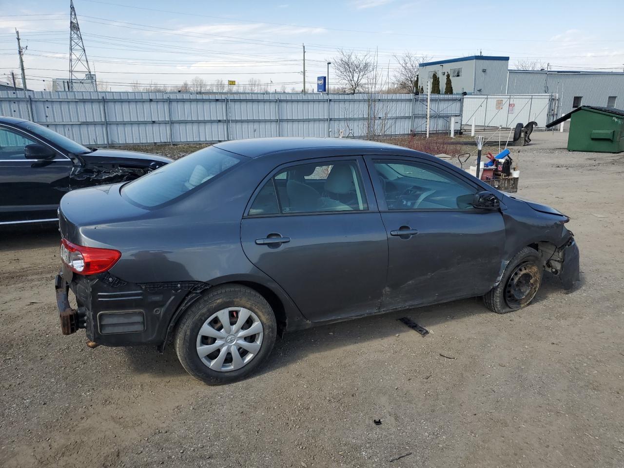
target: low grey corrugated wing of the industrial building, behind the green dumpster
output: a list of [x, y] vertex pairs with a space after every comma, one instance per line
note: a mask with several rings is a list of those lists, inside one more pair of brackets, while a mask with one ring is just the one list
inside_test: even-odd
[[607, 106], [609, 96], [617, 96], [615, 107], [624, 109], [624, 73], [509, 71], [507, 92], [510, 94], [558, 94], [559, 116], [572, 110], [575, 96], [581, 96], [583, 105]]

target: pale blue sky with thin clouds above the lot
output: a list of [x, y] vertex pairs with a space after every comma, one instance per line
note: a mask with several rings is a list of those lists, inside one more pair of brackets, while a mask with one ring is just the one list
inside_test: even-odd
[[[91, 71], [108, 90], [160, 84], [175, 90], [200, 76], [306, 89], [338, 49], [368, 52], [392, 82], [395, 55], [431, 60], [509, 56], [552, 69], [623, 71], [624, 37], [609, 22], [621, 0], [567, 1], [75, 0]], [[19, 29], [29, 89], [69, 77], [69, 0], [0, 0], [0, 82], [19, 73]], [[329, 66], [329, 83], [335, 85]]]

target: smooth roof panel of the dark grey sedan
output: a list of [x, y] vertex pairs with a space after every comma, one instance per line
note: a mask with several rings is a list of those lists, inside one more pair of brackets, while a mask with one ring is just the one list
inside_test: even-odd
[[[353, 149], [359, 151], [379, 154], [397, 150], [409, 152], [410, 150], [387, 143], [371, 142], [368, 140], [358, 140], [352, 138], [311, 138], [311, 137], [291, 137], [291, 138], [253, 138], [246, 140], [233, 140], [215, 144], [215, 147], [236, 153], [249, 158], [257, 158], [284, 151], [303, 150], [331, 150], [331, 149]], [[318, 157], [318, 154], [310, 157]]]

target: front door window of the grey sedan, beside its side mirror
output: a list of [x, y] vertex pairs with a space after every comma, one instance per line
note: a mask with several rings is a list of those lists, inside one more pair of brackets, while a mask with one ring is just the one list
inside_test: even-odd
[[388, 210], [467, 210], [476, 192], [454, 175], [419, 162], [376, 160]]

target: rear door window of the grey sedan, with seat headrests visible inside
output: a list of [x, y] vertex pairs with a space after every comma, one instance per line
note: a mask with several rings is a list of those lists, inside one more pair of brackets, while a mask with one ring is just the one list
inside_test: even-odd
[[249, 215], [363, 210], [368, 210], [368, 205], [358, 165], [337, 161], [291, 166], [278, 172], [258, 192]]

